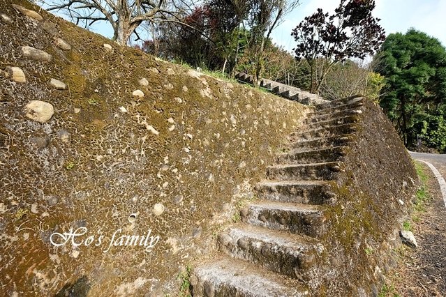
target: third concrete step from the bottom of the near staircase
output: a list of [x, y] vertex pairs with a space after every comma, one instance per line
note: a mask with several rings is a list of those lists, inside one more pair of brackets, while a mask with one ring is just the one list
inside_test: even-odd
[[259, 201], [241, 212], [242, 222], [272, 230], [318, 237], [325, 233], [325, 217], [320, 206]]

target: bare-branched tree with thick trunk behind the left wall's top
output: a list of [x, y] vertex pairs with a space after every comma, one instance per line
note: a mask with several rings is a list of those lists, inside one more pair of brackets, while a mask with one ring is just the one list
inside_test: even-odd
[[190, 5], [189, 0], [54, 0], [47, 10], [65, 10], [76, 24], [86, 27], [109, 22], [113, 40], [127, 45], [142, 23], [181, 22]]

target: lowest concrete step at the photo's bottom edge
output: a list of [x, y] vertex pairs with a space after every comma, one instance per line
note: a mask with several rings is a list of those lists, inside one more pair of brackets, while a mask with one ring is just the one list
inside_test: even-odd
[[195, 268], [191, 277], [194, 297], [304, 297], [301, 282], [239, 259], [213, 259]]

